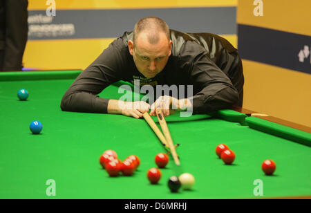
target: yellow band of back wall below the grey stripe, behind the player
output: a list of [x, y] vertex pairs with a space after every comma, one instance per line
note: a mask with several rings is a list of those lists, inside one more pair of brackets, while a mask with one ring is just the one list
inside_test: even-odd
[[[236, 35], [223, 35], [223, 37], [236, 46]], [[40, 69], [84, 69], [109, 46], [113, 39], [28, 41], [23, 56], [24, 66]]]

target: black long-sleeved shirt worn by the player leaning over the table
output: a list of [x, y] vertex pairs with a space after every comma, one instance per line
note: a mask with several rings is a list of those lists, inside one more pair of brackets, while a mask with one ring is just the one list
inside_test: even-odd
[[242, 106], [244, 77], [236, 48], [211, 33], [170, 31], [172, 54], [156, 77], [147, 78], [138, 71], [128, 47], [133, 33], [125, 32], [77, 77], [62, 99], [62, 110], [107, 113], [109, 99], [97, 94], [119, 80], [132, 84], [140, 80], [141, 86], [153, 87], [192, 85], [193, 95], [187, 93], [185, 98], [192, 100], [194, 114]]

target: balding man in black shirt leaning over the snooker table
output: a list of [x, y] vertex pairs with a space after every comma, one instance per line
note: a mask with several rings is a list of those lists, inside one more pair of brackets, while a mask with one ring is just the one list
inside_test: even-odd
[[[192, 85], [192, 96], [178, 99], [159, 95], [147, 102], [126, 102], [100, 98], [110, 84], [139, 80], [142, 85]], [[242, 107], [243, 67], [236, 48], [211, 33], [181, 33], [171, 30], [158, 17], [146, 17], [113, 41], [82, 72], [62, 98], [63, 111], [115, 113], [141, 118], [151, 109], [163, 109], [167, 116], [191, 109], [209, 113], [232, 105]]]

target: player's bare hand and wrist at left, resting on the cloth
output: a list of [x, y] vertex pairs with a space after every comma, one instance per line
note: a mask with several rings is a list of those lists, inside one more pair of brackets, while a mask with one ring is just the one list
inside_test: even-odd
[[120, 100], [109, 100], [108, 113], [122, 114], [133, 118], [141, 118], [143, 113], [148, 112], [150, 105], [147, 102], [124, 102]]

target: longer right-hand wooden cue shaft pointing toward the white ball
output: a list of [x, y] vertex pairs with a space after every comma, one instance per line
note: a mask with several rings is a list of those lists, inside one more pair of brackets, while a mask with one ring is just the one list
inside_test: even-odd
[[171, 155], [175, 161], [176, 165], [180, 165], [180, 161], [178, 159], [178, 155], [176, 149], [173, 144], [173, 140], [171, 139], [171, 134], [169, 133], [169, 127], [167, 127], [167, 122], [164, 119], [163, 113], [161, 109], [156, 109], [157, 117], [160, 122], [162, 131], [164, 133], [165, 138], [167, 139], [167, 143], [169, 144], [169, 149], [171, 149]]

